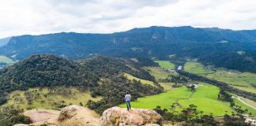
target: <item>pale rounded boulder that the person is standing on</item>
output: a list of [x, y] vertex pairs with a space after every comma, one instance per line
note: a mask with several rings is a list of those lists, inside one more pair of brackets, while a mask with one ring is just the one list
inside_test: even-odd
[[152, 109], [122, 109], [112, 107], [100, 117], [102, 126], [157, 126], [162, 124], [162, 117]]

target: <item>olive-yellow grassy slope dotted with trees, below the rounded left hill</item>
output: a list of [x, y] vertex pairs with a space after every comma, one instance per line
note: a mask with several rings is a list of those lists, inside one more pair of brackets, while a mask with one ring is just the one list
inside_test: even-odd
[[[101, 98], [92, 98], [88, 91], [81, 92], [75, 88], [68, 88], [67, 91], [71, 91], [72, 95], [49, 95], [44, 97], [49, 93], [47, 88], [43, 88], [43, 91], [39, 91], [39, 88], [30, 88], [28, 91], [37, 90], [40, 94], [40, 98], [37, 98], [32, 101], [32, 105], [28, 105], [28, 101], [25, 98], [24, 91], [13, 91], [9, 94], [8, 102], [2, 106], [20, 106], [21, 109], [27, 109], [28, 107], [32, 109], [41, 108], [41, 109], [55, 109], [53, 106], [54, 102], [59, 103], [64, 101], [66, 105], [72, 103], [73, 105], [79, 105], [79, 102], [82, 102], [84, 105], [88, 102], [89, 99], [93, 101], [98, 101]], [[42, 104], [41, 101], [44, 101]]]

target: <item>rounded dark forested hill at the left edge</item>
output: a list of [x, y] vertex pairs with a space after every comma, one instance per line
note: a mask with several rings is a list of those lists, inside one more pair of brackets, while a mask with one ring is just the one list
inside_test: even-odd
[[77, 62], [50, 54], [36, 54], [0, 71], [1, 90], [28, 87], [96, 86], [99, 79]]

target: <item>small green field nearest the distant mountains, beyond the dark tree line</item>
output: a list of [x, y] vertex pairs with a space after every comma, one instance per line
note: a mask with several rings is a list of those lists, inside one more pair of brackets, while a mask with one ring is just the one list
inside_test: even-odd
[[201, 63], [198, 62], [186, 62], [186, 64], [184, 65], [184, 71], [191, 72], [194, 74], [213, 73], [212, 70], [205, 69], [205, 66], [201, 65]]

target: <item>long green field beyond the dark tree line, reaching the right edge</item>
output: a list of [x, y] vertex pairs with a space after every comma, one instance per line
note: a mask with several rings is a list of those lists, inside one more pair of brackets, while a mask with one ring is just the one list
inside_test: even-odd
[[250, 72], [228, 71], [226, 69], [217, 69], [212, 74], [205, 75], [208, 78], [219, 80], [231, 84], [233, 87], [256, 93], [256, 88], [250, 83], [256, 83], [256, 74]]

